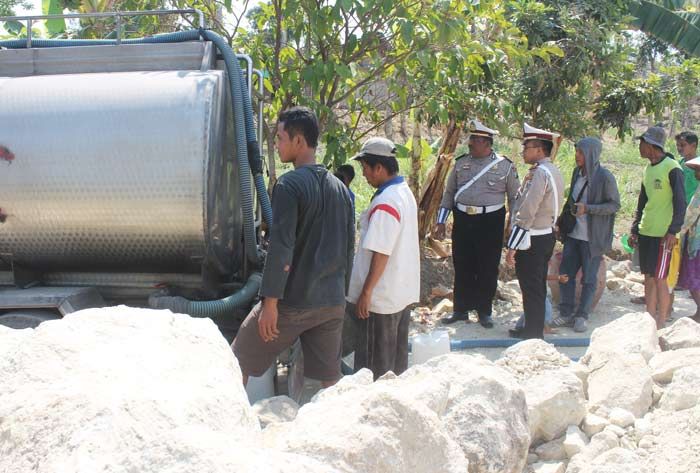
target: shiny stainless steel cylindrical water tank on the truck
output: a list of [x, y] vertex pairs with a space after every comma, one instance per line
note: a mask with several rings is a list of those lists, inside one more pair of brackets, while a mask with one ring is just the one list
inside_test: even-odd
[[42, 271], [235, 270], [232, 132], [222, 71], [0, 78], [0, 254]]

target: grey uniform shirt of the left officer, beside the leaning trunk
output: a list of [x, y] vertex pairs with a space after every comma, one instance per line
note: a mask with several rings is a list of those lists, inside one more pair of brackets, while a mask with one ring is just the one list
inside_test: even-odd
[[[454, 197], [459, 189], [496, 159], [498, 159], [498, 155], [493, 152], [485, 158], [474, 158], [470, 154], [464, 154], [457, 158], [447, 178], [440, 207], [453, 210], [455, 208]], [[508, 207], [512, 208], [518, 186], [518, 171], [512, 161], [504, 158], [494, 164], [468, 189], [459, 194], [456, 203], [473, 206], [501, 205], [505, 194], [508, 198]]]

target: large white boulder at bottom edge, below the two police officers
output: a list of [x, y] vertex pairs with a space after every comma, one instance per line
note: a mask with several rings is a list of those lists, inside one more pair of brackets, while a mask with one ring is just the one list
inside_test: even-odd
[[483, 356], [449, 354], [423, 366], [450, 380], [441, 420], [467, 456], [469, 472], [521, 473], [530, 429], [525, 394], [515, 378]]

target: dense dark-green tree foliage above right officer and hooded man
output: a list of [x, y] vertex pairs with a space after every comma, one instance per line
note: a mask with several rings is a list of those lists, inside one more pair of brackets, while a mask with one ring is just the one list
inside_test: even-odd
[[627, 59], [619, 41], [626, 1], [512, 2], [512, 17], [531, 47], [556, 46], [551, 60], [535, 54], [511, 81], [520, 120], [576, 137], [595, 130], [591, 105], [601, 83]]

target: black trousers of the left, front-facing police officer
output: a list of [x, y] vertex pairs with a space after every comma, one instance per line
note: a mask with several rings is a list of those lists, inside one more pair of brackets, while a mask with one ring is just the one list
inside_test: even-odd
[[455, 268], [455, 312], [476, 310], [491, 315], [498, 287], [506, 209], [468, 215], [455, 209], [452, 261]]

